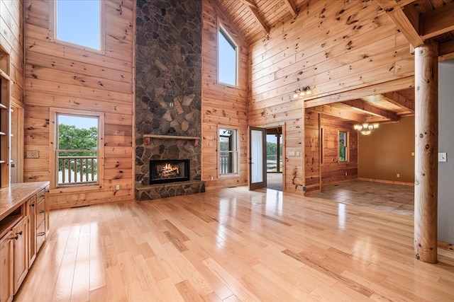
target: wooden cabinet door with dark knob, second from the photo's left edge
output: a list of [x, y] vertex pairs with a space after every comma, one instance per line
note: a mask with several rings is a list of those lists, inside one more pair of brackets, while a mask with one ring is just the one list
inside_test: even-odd
[[21, 287], [28, 272], [28, 217], [23, 217], [13, 228], [14, 294]]

